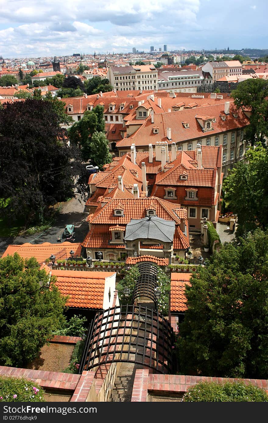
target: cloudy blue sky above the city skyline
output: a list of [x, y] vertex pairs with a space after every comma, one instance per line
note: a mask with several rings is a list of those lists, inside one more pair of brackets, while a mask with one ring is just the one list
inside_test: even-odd
[[268, 48], [267, 0], [0, 0], [0, 55]]

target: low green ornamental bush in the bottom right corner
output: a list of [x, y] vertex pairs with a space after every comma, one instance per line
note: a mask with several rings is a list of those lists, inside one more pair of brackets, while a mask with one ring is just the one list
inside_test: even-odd
[[188, 389], [185, 402], [268, 402], [264, 389], [244, 382], [198, 383]]

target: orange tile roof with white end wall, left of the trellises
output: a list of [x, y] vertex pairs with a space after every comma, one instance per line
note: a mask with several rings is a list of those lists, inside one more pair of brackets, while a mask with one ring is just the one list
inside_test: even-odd
[[51, 275], [57, 277], [55, 284], [61, 294], [69, 295], [68, 307], [102, 309], [105, 278], [114, 272], [51, 270]]

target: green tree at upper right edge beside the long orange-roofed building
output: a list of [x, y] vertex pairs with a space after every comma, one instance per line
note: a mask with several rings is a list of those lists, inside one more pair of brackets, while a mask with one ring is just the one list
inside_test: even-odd
[[268, 81], [248, 79], [238, 84], [231, 96], [238, 109], [250, 110], [250, 125], [246, 127], [244, 137], [254, 146], [258, 141], [265, 145], [268, 137]]

